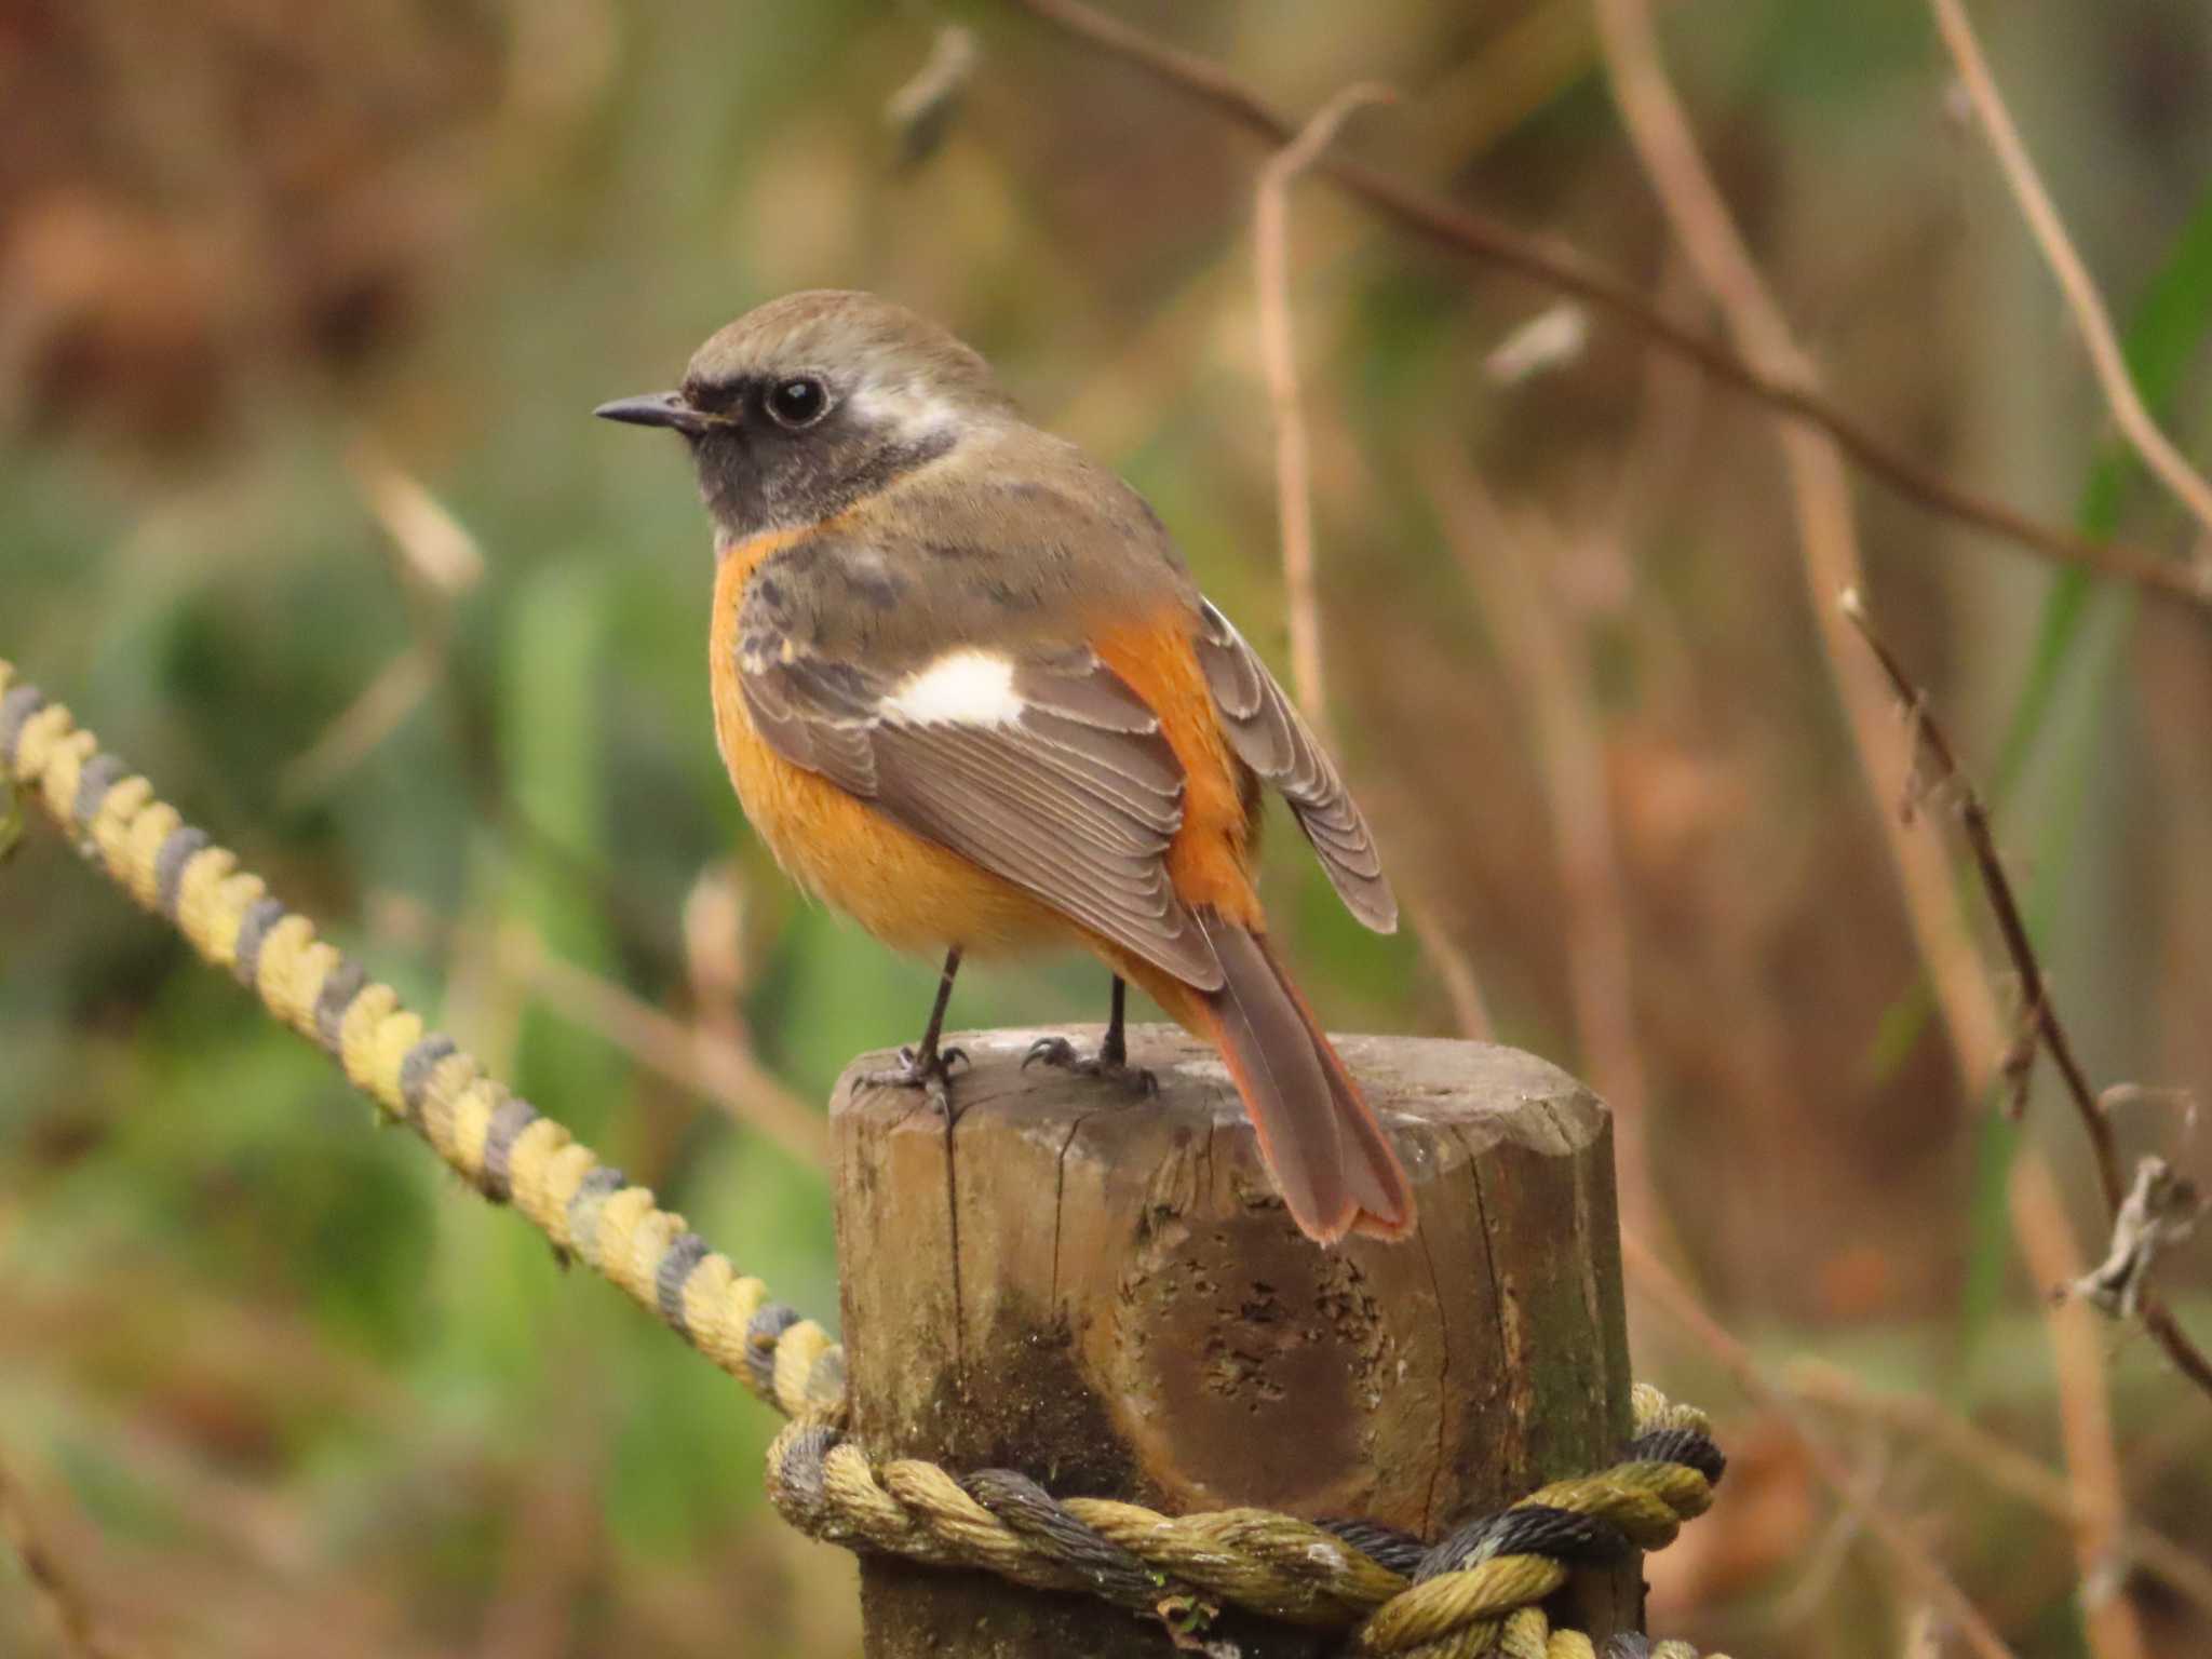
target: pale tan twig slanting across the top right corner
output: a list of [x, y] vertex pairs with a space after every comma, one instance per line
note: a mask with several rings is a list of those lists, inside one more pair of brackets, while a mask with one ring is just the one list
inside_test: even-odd
[[2044, 181], [2035, 173], [2035, 161], [2028, 157], [2028, 146], [2022, 144], [2020, 128], [2013, 126], [2013, 115], [2004, 106], [2004, 93], [1997, 91], [1997, 80], [1989, 73], [1989, 60], [1982, 55], [1982, 42], [1975, 40], [1966, 7], [1962, 0], [1929, 0], [1929, 7], [1936, 11], [1936, 29], [1951, 51], [1951, 62], [1958, 64], [1958, 80], [1966, 88], [1966, 102], [1982, 122], [1982, 131], [1989, 133], [1989, 148], [1997, 155], [2004, 184], [2020, 204], [2020, 215], [2028, 221], [2028, 230], [2035, 232], [2035, 246], [2042, 248], [2044, 263], [2051, 265], [2059, 292], [2066, 296], [2066, 310], [2073, 312], [2081, 343], [2088, 347], [2088, 361], [2097, 372], [2104, 400], [2112, 409], [2112, 420], [2135, 447], [2135, 453], [2143, 458], [2143, 465], [2181, 500], [2201, 531], [2212, 535], [2212, 484], [2190, 467], [2181, 451], [2174, 449], [2172, 438], [2159, 429], [2150, 409], [2143, 407], [2143, 398], [2135, 389], [2135, 376], [2128, 374], [2128, 358], [2119, 347], [2119, 334], [2112, 330], [2112, 314], [2106, 310], [2097, 283], [2081, 263], [2081, 254], [2075, 252], [2073, 237], [2066, 234], [2066, 223], [2059, 219], [2057, 208], [2051, 206], [2051, 192], [2044, 190]]

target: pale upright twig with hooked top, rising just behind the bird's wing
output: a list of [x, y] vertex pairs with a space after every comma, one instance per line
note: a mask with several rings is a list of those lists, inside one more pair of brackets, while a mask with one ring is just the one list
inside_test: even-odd
[[[1252, 204], [1252, 268], [1259, 279], [1259, 347], [1274, 407], [1274, 498], [1283, 526], [1283, 593], [1290, 604], [1290, 681], [1307, 723], [1329, 739], [1327, 675], [1321, 661], [1321, 602], [1314, 593], [1314, 487], [1298, 409], [1298, 345], [1290, 321], [1290, 186], [1367, 104], [1396, 97], [1389, 86], [1347, 86], [1259, 170]], [[1332, 743], [1334, 748], [1334, 743]]]

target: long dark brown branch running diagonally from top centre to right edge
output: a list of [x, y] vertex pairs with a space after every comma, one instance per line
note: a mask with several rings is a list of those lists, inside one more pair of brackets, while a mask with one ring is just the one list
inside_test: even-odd
[[[1082, 4], [1082, 0], [1013, 2], [1031, 15], [1199, 100], [1274, 146], [1290, 144], [1296, 137], [1296, 122], [1281, 115], [1259, 93], [1206, 58], [1157, 42], [1119, 18]], [[1511, 270], [1542, 288], [1573, 294], [1657, 345], [1697, 363], [1723, 385], [1759, 398], [1803, 420], [1807, 427], [1825, 431], [1867, 473], [1933, 513], [1973, 524], [2057, 564], [2084, 564], [2101, 575], [2139, 582], [2174, 599], [2212, 606], [2212, 568], [2192, 571], [2179, 560], [2163, 560], [2119, 542], [2097, 542], [2075, 535], [2073, 531], [2042, 524], [2004, 502], [1953, 484], [1916, 462], [1902, 449], [1896, 449], [1871, 427], [1834, 407], [1814, 387], [1759, 367], [1725, 345], [1672, 321], [1626, 281], [1555, 237], [1515, 230], [1347, 157], [1325, 155], [1314, 164], [1314, 170], [1334, 179], [1349, 195], [1383, 210], [1407, 230]]]

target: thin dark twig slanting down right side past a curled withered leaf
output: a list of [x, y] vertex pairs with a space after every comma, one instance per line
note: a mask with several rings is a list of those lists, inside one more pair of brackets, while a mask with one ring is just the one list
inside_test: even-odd
[[[2119, 1206], [2128, 1194], [2126, 1177], [2119, 1168], [2119, 1137], [2112, 1133], [2112, 1119], [2099, 1104], [2097, 1091], [2090, 1086], [2079, 1055], [2075, 1055], [2073, 1037], [2066, 1033], [2066, 1024], [2059, 1020], [2057, 1006], [2051, 1000], [2051, 984], [2044, 975], [2044, 964], [2035, 956], [2035, 942], [2028, 938], [2028, 925], [2020, 914], [2020, 900], [2013, 896], [2013, 883], [2004, 874], [2004, 860], [1997, 856], [1997, 841], [1989, 825], [1989, 807], [1960, 770], [1951, 739], [1927, 708], [1927, 695], [1911, 681], [1905, 666], [1896, 659], [1889, 646], [1882, 644], [1880, 635], [1874, 633], [1874, 622], [1867, 617], [1867, 606], [1858, 597], [1856, 588], [1845, 591], [1840, 608], [1851, 626], [1858, 628], [1860, 639], [1867, 641], [1874, 659], [1882, 666], [1882, 675], [1887, 675], [1891, 688], [1896, 688], [1898, 701], [1902, 701], [1911, 712], [1916, 741], [1933, 768], [1927, 785], [1944, 790], [1958, 801], [1958, 818], [1966, 834], [1973, 869], [1980, 876], [1982, 894], [1989, 898], [1989, 909], [1997, 918], [1997, 936], [2004, 940], [2004, 953], [2013, 964], [2013, 973], [2020, 978], [2020, 995], [2026, 1009], [2024, 1018], [2031, 1022], [2031, 1031], [2039, 1046], [2048, 1051], [2059, 1077], [2066, 1079], [2066, 1097], [2073, 1102], [2075, 1115], [2081, 1119], [2090, 1155], [2097, 1164], [2097, 1186], [2104, 1190], [2106, 1225], [2110, 1228], [2110, 1223], [2119, 1219]], [[2174, 1323], [2166, 1303], [2150, 1292], [2143, 1292], [2137, 1305], [2143, 1325], [2157, 1338], [2159, 1347], [2166, 1349], [2168, 1358], [2172, 1358], [2190, 1383], [2212, 1396], [2212, 1360], [2205, 1360], [2203, 1352], [2188, 1338], [2181, 1325]]]

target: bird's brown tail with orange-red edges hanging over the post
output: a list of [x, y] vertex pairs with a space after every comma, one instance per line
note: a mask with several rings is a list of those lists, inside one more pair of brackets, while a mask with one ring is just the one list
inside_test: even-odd
[[1290, 1219], [1321, 1243], [1405, 1239], [1413, 1192], [1374, 1108], [1336, 1057], [1267, 940], [1197, 911], [1228, 982], [1201, 1000], [1206, 1033], [1243, 1095]]

